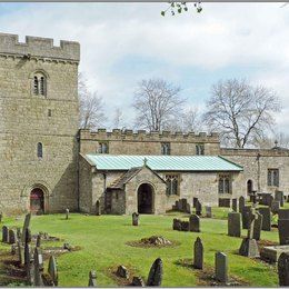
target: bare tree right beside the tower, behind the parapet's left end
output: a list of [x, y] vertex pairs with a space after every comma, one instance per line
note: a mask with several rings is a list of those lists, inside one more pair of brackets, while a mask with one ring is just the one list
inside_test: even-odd
[[97, 92], [90, 92], [87, 87], [86, 79], [79, 74], [79, 110], [81, 129], [96, 129], [104, 124], [107, 118], [104, 114], [104, 104], [101, 97]]

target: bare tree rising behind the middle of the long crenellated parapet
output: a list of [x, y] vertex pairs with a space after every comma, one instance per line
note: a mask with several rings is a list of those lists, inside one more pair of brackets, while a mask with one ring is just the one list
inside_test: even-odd
[[142, 80], [133, 98], [136, 127], [159, 131], [178, 120], [186, 102], [180, 88], [162, 79]]

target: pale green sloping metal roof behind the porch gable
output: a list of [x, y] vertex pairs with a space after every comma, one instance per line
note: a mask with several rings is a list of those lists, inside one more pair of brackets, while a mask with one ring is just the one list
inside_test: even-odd
[[242, 167], [217, 156], [114, 156], [86, 155], [98, 170], [129, 170], [147, 162], [156, 171], [242, 171]]

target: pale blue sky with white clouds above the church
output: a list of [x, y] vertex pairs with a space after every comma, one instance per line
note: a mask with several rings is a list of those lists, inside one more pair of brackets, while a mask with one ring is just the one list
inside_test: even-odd
[[219, 80], [247, 79], [272, 88], [282, 103], [277, 131], [289, 133], [289, 6], [192, 3], [161, 17], [168, 3], [0, 3], [0, 32], [79, 41], [79, 70], [89, 89], [133, 119], [133, 92], [142, 79], [181, 87], [188, 106], [206, 108]]

